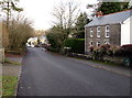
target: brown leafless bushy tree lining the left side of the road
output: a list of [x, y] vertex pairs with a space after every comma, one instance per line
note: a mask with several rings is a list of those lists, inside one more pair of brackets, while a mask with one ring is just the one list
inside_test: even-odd
[[23, 15], [19, 15], [19, 20], [13, 18], [9, 25], [10, 50], [23, 48], [28, 39], [33, 36], [33, 33], [32, 21]]

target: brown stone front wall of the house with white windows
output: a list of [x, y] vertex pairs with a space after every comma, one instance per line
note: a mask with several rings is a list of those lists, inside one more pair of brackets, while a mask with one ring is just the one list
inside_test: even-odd
[[[110, 37], [106, 37], [106, 25], [98, 25], [101, 28], [100, 37], [97, 37], [97, 26], [87, 26], [85, 28], [85, 53], [89, 52], [90, 41], [94, 41], [94, 47], [97, 47], [97, 42], [100, 42], [100, 45], [103, 45], [106, 42], [109, 42], [112, 45], [120, 45], [121, 42], [121, 25], [120, 24], [110, 24]], [[94, 36], [90, 37], [90, 28], [94, 29]]]

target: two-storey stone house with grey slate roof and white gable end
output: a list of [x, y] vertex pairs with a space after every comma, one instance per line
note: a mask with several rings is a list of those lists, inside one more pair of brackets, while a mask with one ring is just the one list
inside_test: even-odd
[[132, 10], [98, 15], [85, 25], [85, 53], [103, 44], [132, 44]]

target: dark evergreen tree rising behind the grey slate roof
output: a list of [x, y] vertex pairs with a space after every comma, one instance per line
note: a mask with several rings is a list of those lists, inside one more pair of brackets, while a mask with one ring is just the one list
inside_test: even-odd
[[96, 15], [98, 11], [101, 11], [103, 14], [109, 14], [132, 9], [129, 6], [130, 2], [125, 2], [125, 0], [114, 0], [114, 2], [111, 2], [111, 0], [107, 1], [108, 2], [106, 2], [106, 0], [99, 0], [97, 4], [88, 4], [87, 8], [92, 8], [95, 10], [92, 15]]

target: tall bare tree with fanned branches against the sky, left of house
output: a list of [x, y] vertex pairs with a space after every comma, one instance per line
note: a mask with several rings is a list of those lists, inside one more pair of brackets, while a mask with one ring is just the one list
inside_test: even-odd
[[73, 0], [63, 2], [54, 7], [53, 15], [56, 19], [54, 24], [59, 26], [63, 30], [68, 30], [66, 35], [70, 33], [72, 26], [75, 24], [76, 19], [79, 14], [79, 3], [74, 2]]

